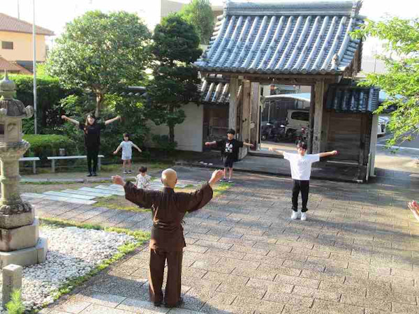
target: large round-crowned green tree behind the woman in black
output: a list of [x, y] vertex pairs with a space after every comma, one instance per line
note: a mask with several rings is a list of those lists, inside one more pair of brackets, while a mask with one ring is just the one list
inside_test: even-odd
[[98, 117], [105, 94], [142, 80], [150, 62], [150, 40], [135, 14], [90, 11], [66, 25], [46, 70], [67, 88], [91, 90]]

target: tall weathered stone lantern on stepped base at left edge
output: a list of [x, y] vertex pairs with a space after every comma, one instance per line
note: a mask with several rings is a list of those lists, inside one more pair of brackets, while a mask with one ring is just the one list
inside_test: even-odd
[[[0, 81], [0, 267], [27, 266], [45, 261], [47, 240], [39, 238], [39, 223], [34, 207], [23, 202], [19, 192], [19, 158], [30, 144], [22, 140], [22, 119], [34, 114], [13, 99], [15, 83], [7, 72]], [[2, 96], [2, 97], [1, 97]]]

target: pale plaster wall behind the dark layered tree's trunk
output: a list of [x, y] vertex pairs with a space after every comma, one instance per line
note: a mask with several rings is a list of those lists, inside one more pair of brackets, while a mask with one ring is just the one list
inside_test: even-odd
[[[177, 149], [181, 151], [203, 151], [203, 121], [204, 110], [203, 105], [196, 105], [196, 103], [189, 103], [183, 108], [186, 119], [183, 124], [175, 126], [175, 141], [177, 142]], [[152, 121], [148, 122], [151, 128], [151, 134], [168, 135], [169, 128], [166, 125], [156, 126]], [[150, 139], [147, 140], [147, 145], [153, 146]]]

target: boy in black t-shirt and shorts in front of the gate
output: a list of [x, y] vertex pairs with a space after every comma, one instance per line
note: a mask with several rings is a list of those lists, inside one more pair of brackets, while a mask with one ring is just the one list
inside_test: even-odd
[[[221, 157], [223, 158], [224, 164], [224, 177], [220, 180], [220, 182], [233, 183], [231, 177], [233, 176], [233, 164], [239, 158], [239, 149], [243, 146], [253, 147], [253, 144], [242, 142], [239, 140], [234, 139], [235, 130], [230, 128], [227, 131], [227, 138], [225, 140], [219, 140], [214, 142], [205, 142], [206, 146], [216, 145], [217, 147], [221, 148]], [[228, 179], [226, 178], [228, 169]]]

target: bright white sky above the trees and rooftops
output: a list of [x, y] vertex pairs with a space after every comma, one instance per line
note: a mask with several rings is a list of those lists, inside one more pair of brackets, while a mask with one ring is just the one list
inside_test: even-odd
[[[35, 24], [50, 29], [59, 36], [66, 22], [70, 22], [88, 10], [99, 9], [103, 12], [126, 10], [128, 12], [135, 12], [134, 8], [138, 10], [142, 5], [147, 6], [149, 1], [154, 0], [1, 0], [0, 12], [17, 17], [17, 7], [19, 4], [20, 19], [32, 22], [33, 1], [35, 1]], [[235, 1], [251, 2], [246, 0]], [[258, 1], [276, 2], [269, 0]], [[188, 3], [189, 0], [177, 0], [177, 2]], [[212, 0], [211, 3], [216, 6], [221, 6], [223, 5], [223, 0]], [[360, 13], [371, 20], [379, 20], [385, 15], [395, 15], [402, 18], [419, 17], [419, 1], [364, 0]], [[374, 54], [376, 49], [380, 53], [381, 45], [377, 43], [376, 40], [368, 40], [364, 45], [363, 53]]]

